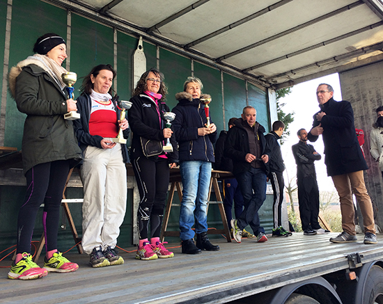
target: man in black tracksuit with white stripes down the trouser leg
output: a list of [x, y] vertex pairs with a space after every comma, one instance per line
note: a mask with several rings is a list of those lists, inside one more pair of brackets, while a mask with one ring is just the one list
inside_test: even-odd
[[291, 235], [291, 232], [286, 231], [282, 226], [283, 189], [285, 188], [283, 170], [285, 170], [285, 164], [283, 163], [281, 146], [279, 145], [278, 140], [281, 139], [284, 129], [285, 124], [280, 120], [276, 120], [272, 125], [272, 131], [265, 136], [267, 145], [269, 145], [269, 148], [272, 151], [269, 159], [270, 172], [267, 175], [267, 178], [272, 183], [272, 189], [274, 192], [273, 237], [288, 237]]

